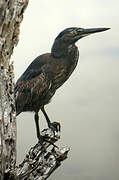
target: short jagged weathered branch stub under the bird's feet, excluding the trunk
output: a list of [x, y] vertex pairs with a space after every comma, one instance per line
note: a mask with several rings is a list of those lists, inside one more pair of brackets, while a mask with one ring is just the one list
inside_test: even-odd
[[53, 135], [50, 129], [42, 132], [47, 141], [41, 145], [37, 143], [30, 149], [24, 161], [16, 168], [16, 174], [20, 180], [45, 180], [56, 168], [61, 165], [61, 162], [67, 158], [69, 148], [59, 148], [51, 145], [50, 142], [55, 143], [60, 138], [57, 133]]

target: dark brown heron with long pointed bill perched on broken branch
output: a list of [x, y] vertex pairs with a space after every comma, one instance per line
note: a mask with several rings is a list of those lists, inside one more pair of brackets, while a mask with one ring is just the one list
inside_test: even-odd
[[66, 28], [55, 38], [50, 53], [35, 58], [15, 85], [16, 116], [22, 112], [34, 112], [37, 138], [42, 140], [39, 127], [41, 110], [48, 127], [54, 132], [60, 129], [59, 123], [52, 123], [45, 110], [60, 88], [75, 70], [79, 50], [76, 42], [88, 35], [109, 30], [110, 28]]

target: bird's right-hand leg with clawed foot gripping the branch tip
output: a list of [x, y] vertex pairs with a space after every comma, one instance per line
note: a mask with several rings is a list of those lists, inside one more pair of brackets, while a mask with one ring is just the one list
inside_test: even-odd
[[41, 111], [42, 111], [42, 113], [45, 116], [45, 119], [47, 121], [48, 127], [53, 131], [53, 133], [55, 135], [55, 131], [58, 132], [61, 129], [60, 123], [58, 123], [58, 122], [51, 123], [51, 121], [50, 121], [50, 119], [49, 119], [49, 117], [48, 117], [48, 115], [47, 115], [47, 113], [46, 113], [46, 111], [44, 109], [44, 106], [42, 106]]

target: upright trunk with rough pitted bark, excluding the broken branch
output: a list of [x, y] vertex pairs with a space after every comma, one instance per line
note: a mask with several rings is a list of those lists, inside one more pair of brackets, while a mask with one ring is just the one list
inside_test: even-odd
[[16, 120], [14, 73], [10, 57], [18, 43], [19, 26], [28, 0], [0, 0], [0, 177], [15, 168]]

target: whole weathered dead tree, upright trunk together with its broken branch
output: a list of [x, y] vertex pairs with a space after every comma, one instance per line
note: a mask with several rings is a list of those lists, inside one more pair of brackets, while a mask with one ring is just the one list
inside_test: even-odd
[[[16, 167], [16, 113], [14, 103], [14, 68], [10, 61], [19, 40], [19, 28], [28, 0], [0, 0], [0, 180], [46, 179], [67, 157], [68, 148], [48, 150], [38, 143], [23, 163]], [[49, 130], [49, 141], [59, 139]]]

